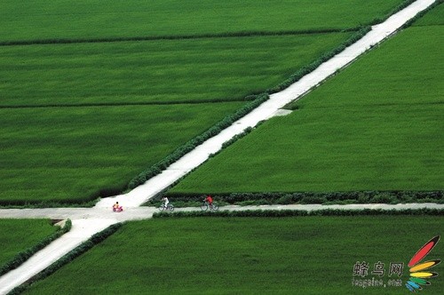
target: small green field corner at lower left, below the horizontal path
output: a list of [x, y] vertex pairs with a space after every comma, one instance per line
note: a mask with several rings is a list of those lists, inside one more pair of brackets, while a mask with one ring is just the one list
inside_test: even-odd
[[0, 219], [0, 267], [56, 230], [47, 219]]

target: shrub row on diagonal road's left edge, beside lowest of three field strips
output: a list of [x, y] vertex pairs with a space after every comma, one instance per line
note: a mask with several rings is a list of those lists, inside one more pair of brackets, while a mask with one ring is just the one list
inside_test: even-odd
[[128, 184], [128, 188], [133, 189], [138, 187], [139, 185], [145, 183], [147, 179], [151, 179], [155, 175], [161, 173], [168, 166], [170, 166], [171, 163], [178, 161], [178, 159], [180, 159], [183, 155], [186, 155], [194, 148], [201, 145], [205, 140], [209, 140], [213, 136], [222, 132], [224, 129], [226, 129], [226, 127], [250, 113], [250, 111], [252, 111], [254, 108], [258, 108], [258, 106], [266, 100], [268, 100], [268, 95], [259, 94], [256, 96], [255, 100], [247, 103], [244, 107], [237, 110], [233, 115], [226, 116], [218, 124], [210, 127], [209, 130], [196, 136], [193, 140], [189, 140], [185, 145], [176, 149], [172, 154], [168, 155], [162, 161], [155, 163], [155, 165], [148, 168], [146, 171], [142, 171], [136, 178], [131, 179], [130, 183]]

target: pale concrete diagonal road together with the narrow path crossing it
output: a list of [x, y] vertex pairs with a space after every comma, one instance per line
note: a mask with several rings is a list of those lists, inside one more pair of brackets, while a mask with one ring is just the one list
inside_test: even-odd
[[[125, 195], [116, 195], [114, 197], [102, 199], [92, 209], [42, 209], [42, 210], [0, 210], [0, 218], [52, 218], [65, 219], [70, 218], [73, 221], [73, 227], [69, 233], [61, 236], [57, 241], [51, 243], [44, 250], [39, 251], [26, 263], [12, 272], [0, 277], [0, 294], [6, 294], [14, 287], [26, 282], [33, 275], [49, 267], [54, 261], [65, 255], [68, 251], [74, 249], [83, 241], [86, 241], [91, 235], [98, 233], [115, 222], [145, 219], [152, 216], [155, 208], [136, 208], [142, 203], [147, 202], [151, 197], [161, 192], [165, 187], [170, 186], [174, 181], [184, 176], [195, 167], [205, 162], [210, 154], [214, 154], [221, 149], [226, 140], [232, 139], [235, 135], [241, 133], [248, 127], [256, 126], [260, 121], [267, 120], [273, 116], [279, 115], [279, 109], [292, 100], [298, 100], [305, 92], [308, 92], [317, 84], [333, 75], [337, 69], [346, 67], [350, 62], [358, 58], [363, 52], [366, 52], [372, 46], [382, 42], [387, 36], [392, 35], [406, 21], [413, 18], [416, 13], [423, 11], [433, 4], [434, 0], [417, 0], [407, 8], [395, 13], [384, 23], [374, 26], [372, 30], [360, 41], [347, 47], [344, 52], [337, 54], [332, 59], [323, 63], [311, 74], [304, 76], [296, 84], [282, 92], [271, 95], [261, 106], [253, 110], [247, 116], [235, 122], [232, 126], [220, 132], [217, 136], [205, 141], [201, 146], [184, 155], [178, 162], [173, 163], [167, 170], [149, 179], [144, 185], [136, 187], [130, 193]], [[110, 208], [115, 201], [119, 201], [126, 208], [122, 213], [113, 213]], [[333, 209], [363, 209], [366, 205], [333, 205]], [[354, 207], [353, 207], [354, 206]], [[373, 209], [384, 209], [385, 205], [369, 204]], [[390, 205], [389, 205], [390, 206]], [[401, 209], [402, 205], [392, 205], [392, 209]], [[414, 204], [407, 204], [407, 207]], [[417, 205], [419, 207], [425, 204]], [[431, 206], [427, 208], [443, 209], [443, 205], [426, 204]], [[289, 205], [289, 206], [260, 206], [260, 207], [238, 207], [230, 206], [224, 209], [246, 210], [246, 209], [293, 209], [293, 210], [320, 210], [327, 209], [329, 206], [321, 205]], [[304, 209], [305, 208], [305, 209]], [[178, 209], [178, 211], [198, 210], [197, 208]]]

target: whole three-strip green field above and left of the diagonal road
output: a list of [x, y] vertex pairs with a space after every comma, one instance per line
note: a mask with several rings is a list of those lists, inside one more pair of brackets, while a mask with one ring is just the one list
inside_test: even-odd
[[0, 203], [122, 193], [248, 95], [403, 3], [6, 0]]

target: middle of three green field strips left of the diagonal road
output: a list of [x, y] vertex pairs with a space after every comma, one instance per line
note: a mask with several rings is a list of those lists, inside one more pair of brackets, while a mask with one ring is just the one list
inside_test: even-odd
[[243, 100], [351, 35], [0, 46], [0, 106]]

